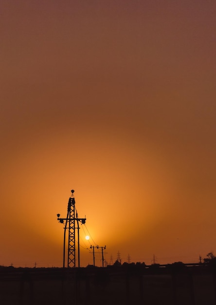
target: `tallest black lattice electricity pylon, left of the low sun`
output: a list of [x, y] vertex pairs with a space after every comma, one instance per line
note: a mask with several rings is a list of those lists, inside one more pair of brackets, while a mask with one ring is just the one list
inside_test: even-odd
[[[71, 191], [72, 195], [68, 201], [68, 212], [66, 218], [60, 218], [60, 214], [57, 214], [57, 220], [64, 224], [64, 247], [63, 247], [63, 268], [65, 267], [65, 242], [66, 242], [66, 230], [68, 229], [68, 255], [67, 255], [67, 267], [76, 267], [76, 248], [75, 248], [75, 229], [77, 229], [78, 237], [78, 267], [80, 267], [80, 254], [79, 254], [79, 222], [82, 224], [86, 223], [86, 218], [78, 218], [77, 212], [75, 217], [75, 199], [74, 190]], [[75, 222], [77, 222], [77, 228], [75, 228]]]

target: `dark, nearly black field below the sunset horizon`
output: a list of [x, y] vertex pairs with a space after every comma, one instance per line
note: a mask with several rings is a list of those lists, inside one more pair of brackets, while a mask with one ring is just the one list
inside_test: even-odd
[[0, 268], [1, 305], [216, 305], [210, 267]]

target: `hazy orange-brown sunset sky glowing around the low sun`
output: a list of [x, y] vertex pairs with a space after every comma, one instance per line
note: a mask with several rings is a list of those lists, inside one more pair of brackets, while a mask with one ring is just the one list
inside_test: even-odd
[[81, 266], [216, 251], [215, 0], [1, 0], [0, 71], [0, 265], [62, 266], [72, 189]]

